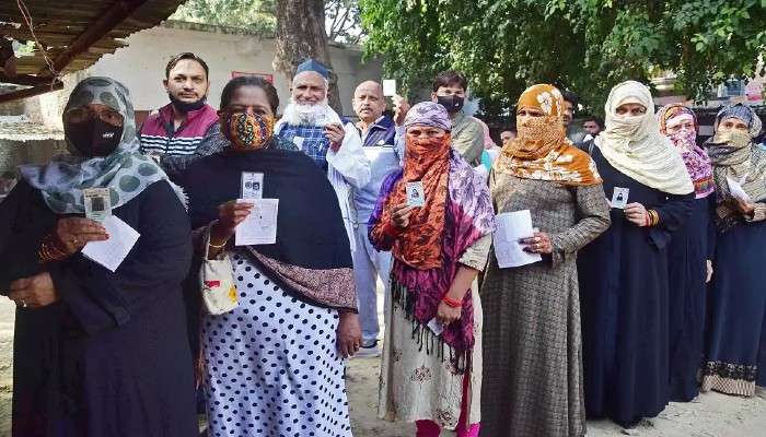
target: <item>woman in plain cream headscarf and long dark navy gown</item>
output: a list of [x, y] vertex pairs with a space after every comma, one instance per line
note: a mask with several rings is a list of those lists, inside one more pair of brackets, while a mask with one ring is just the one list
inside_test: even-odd
[[668, 246], [695, 194], [647, 86], [616, 85], [604, 113], [592, 157], [612, 226], [578, 256], [585, 412], [630, 428], [670, 398]]

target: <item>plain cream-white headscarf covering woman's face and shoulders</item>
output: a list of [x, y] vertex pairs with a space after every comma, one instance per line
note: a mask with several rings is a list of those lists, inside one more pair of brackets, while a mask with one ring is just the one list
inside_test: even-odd
[[[632, 117], [617, 115], [617, 108], [637, 103], [647, 113]], [[604, 106], [606, 129], [594, 143], [604, 158], [629, 178], [670, 194], [688, 194], [694, 185], [681, 153], [665, 135], [654, 117], [649, 88], [636, 81], [623, 82], [610, 92]]]

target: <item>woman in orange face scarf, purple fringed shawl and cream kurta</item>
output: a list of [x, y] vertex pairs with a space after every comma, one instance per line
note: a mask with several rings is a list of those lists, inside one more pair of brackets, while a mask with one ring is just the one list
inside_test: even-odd
[[[385, 309], [382, 418], [478, 435], [481, 304], [495, 216], [487, 185], [452, 149], [443, 106], [415, 105], [405, 119], [404, 168], [381, 188], [370, 240], [392, 250], [393, 298]], [[422, 199], [422, 201], [418, 201]]]

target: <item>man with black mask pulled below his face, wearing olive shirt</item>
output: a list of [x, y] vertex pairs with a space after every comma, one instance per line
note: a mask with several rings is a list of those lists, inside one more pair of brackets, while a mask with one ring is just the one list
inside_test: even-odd
[[442, 71], [433, 80], [431, 101], [446, 108], [452, 119], [452, 145], [463, 160], [476, 167], [481, 164], [484, 128], [463, 113], [468, 81], [454, 70]]

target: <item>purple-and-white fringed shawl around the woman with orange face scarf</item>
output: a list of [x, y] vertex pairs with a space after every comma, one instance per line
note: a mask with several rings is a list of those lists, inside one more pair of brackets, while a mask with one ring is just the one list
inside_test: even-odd
[[[373, 238], [372, 229], [383, 226], [380, 223], [383, 205], [396, 181], [402, 178], [402, 170], [392, 173], [383, 181], [375, 209], [370, 217], [370, 241], [378, 250], [390, 250], [393, 239]], [[486, 182], [453, 150], [450, 156], [448, 179], [448, 203], [445, 211], [444, 234], [441, 252], [444, 262], [441, 268], [417, 270], [394, 259], [391, 272], [391, 290], [396, 303], [405, 308], [407, 318], [413, 321], [413, 336], [422, 347], [430, 351], [429, 333], [426, 327], [437, 315], [442, 297], [450, 291], [455, 277], [459, 260], [465, 250], [479, 238], [495, 231], [495, 212], [489, 199]], [[381, 235], [380, 233], [376, 233]], [[474, 307], [471, 292], [465, 294], [462, 315], [459, 321], [448, 326], [439, 339], [441, 344], [450, 346], [450, 357], [455, 368], [464, 371], [474, 346]], [[441, 353], [441, 350], [440, 350]]]

